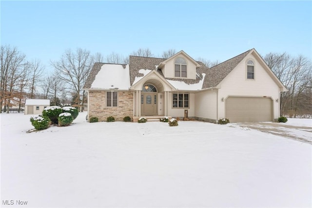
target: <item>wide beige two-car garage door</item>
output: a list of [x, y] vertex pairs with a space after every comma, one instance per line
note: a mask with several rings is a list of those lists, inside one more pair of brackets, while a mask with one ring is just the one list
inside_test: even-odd
[[225, 101], [225, 117], [230, 122], [273, 121], [271, 98], [228, 97]]

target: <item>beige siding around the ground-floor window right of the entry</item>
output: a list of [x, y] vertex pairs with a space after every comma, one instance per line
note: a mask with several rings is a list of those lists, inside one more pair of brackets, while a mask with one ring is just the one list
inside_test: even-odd
[[[187, 93], [187, 92], [173, 92], [173, 93]], [[188, 110], [189, 117], [195, 117], [195, 94], [188, 93], [190, 95], [189, 108], [173, 108], [172, 107], [172, 94], [168, 92], [168, 116], [172, 117], [184, 117], [184, 110]]]

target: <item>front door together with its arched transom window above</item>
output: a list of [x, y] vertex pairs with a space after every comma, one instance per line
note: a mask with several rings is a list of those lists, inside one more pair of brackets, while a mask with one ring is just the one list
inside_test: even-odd
[[157, 89], [153, 84], [144, 84], [142, 87], [141, 115], [157, 115]]

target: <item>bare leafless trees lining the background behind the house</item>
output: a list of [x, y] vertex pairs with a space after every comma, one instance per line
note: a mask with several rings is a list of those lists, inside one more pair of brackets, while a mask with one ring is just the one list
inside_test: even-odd
[[[167, 59], [176, 52], [169, 49], [163, 51], [161, 57]], [[129, 55], [155, 57], [149, 48], [139, 48]], [[312, 114], [311, 60], [302, 55], [292, 57], [286, 52], [272, 52], [264, 55], [263, 59], [288, 89], [280, 94], [281, 115]], [[212, 62], [201, 57], [196, 61], [207, 67], [219, 63], [218, 60]], [[18, 105], [21, 110], [25, 98], [50, 99], [51, 105], [71, 104], [82, 110], [82, 105], [87, 103], [82, 87], [93, 64], [128, 64], [129, 56], [112, 52], [104, 57], [101, 53], [91, 54], [86, 49], [68, 49], [58, 61], [49, 63], [54, 73], [44, 76], [45, 66], [39, 60], [28, 61], [17, 47], [3, 45], [0, 47], [0, 62], [0, 105], [4, 112], [9, 113], [12, 105]]]

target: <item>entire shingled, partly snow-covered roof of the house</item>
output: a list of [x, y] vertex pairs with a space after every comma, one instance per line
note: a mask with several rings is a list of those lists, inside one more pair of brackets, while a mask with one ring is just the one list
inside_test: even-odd
[[[274, 82], [279, 86], [280, 90], [287, 91], [283, 83], [280, 82], [254, 48], [225, 62], [219, 63], [212, 68], [208, 68], [202, 62], [196, 62], [196, 66], [198, 66], [196, 67], [196, 79], [165, 78], [161, 69], [158, 69], [159, 64], [168, 62], [179, 54], [188, 57], [184, 51], [180, 51], [169, 59], [129, 56], [130, 64], [97, 62], [92, 67], [83, 89], [129, 89], [136, 82], [136, 79], [141, 79], [146, 75], [146, 73], [140, 71], [142, 69], [151, 71], [155, 70], [156, 73], [179, 90], [213, 88], [217, 87], [217, 85], [220, 84], [247, 55], [253, 54]], [[190, 59], [193, 60], [191, 57]]]

